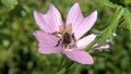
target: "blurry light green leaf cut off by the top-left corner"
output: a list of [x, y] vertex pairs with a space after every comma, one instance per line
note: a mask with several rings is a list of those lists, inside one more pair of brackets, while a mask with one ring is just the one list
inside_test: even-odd
[[17, 0], [1, 0], [1, 3], [2, 3], [8, 10], [13, 10], [19, 2], [17, 2]]

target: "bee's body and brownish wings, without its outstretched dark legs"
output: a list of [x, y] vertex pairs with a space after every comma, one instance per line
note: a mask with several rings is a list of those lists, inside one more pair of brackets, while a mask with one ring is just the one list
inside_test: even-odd
[[72, 34], [72, 24], [69, 24], [68, 26], [59, 26], [60, 29], [60, 44], [58, 42], [57, 45], [61, 45], [64, 50], [71, 49], [74, 47], [74, 36]]

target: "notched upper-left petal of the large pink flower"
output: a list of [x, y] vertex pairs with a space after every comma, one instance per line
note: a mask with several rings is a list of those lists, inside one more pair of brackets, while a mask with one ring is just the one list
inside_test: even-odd
[[46, 14], [34, 11], [34, 17], [38, 26], [46, 33], [59, 30], [59, 25], [62, 25], [61, 15], [52, 4]]

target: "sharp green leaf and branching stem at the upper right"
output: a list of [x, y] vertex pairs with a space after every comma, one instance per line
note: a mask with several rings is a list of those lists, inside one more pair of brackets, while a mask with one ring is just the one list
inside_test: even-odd
[[99, 45], [105, 45], [108, 38], [112, 41], [112, 35], [116, 32], [118, 24], [120, 24], [120, 18], [122, 16], [124, 18], [124, 22], [127, 23], [124, 24], [124, 26], [121, 25], [122, 28], [131, 30], [131, 25], [129, 22], [131, 20], [131, 13], [127, 8], [121, 7], [119, 4], [115, 4], [109, 0], [100, 0], [100, 2], [105, 5], [116, 9], [114, 16], [108, 23], [108, 26], [103, 30], [103, 34], [96, 39]]

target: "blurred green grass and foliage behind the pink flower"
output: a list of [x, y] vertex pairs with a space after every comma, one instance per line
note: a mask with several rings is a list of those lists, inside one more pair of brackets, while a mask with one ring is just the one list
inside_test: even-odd
[[[130, 0], [110, 0], [128, 8]], [[114, 16], [115, 9], [102, 0], [1, 0], [0, 1], [0, 74], [55, 74], [60, 66], [61, 54], [40, 54], [33, 32], [39, 29], [33, 11], [46, 13], [52, 3], [66, 21], [69, 9], [79, 2], [84, 16], [98, 11], [98, 20], [90, 33], [102, 32]], [[75, 64], [69, 74], [131, 74], [131, 27], [122, 22], [116, 28], [111, 48], [94, 50], [93, 65]], [[131, 25], [131, 23], [130, 23]], [[63, 74], [64, 70], [59, 74]]]

